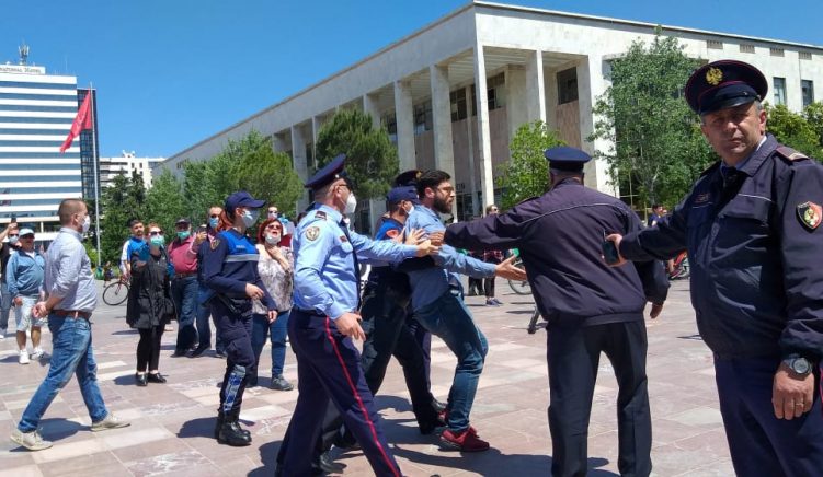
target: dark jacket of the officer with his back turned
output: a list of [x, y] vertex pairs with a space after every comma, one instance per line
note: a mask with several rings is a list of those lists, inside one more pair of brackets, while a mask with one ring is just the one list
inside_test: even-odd
[[614, 268], [601, 256], [604, 233], [640, 228], [622, 201], [565, 179], [506, 213], [449, 225], [445, 241], [468, 249], [519, 248], [549, 324], [588, 326], [642, 319], [647, 300], [665, 300], [662, 264]]

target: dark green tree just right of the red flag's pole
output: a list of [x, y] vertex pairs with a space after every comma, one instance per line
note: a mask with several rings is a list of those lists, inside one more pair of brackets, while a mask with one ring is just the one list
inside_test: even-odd
[[103, 189], [100, 200], [100, 248], [102, 261], [118, 263], [123, 242], [128, 237], [128, 221], [145, 220], [146, 189], [137, 172], [117, 175]]

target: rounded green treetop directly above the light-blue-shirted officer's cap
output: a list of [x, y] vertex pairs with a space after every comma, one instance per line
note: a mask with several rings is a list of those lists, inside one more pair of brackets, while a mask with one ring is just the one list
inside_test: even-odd
[[356, 109], [341, 109], [320, 128], [316, 151], [319, 167], [346, 154], [346, 172], [361, 199], [385, 196], [399, 172], [397, 148], [386, 129], [373, 128], [372, 116]]

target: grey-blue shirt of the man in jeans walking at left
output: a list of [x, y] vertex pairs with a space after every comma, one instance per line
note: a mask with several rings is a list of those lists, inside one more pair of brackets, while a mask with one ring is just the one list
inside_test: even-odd
[[57, 310], [91, 313], [98, 305], [98, 291], [91, 275], [91, 260], [83, 247], [82, 235], [61, 228], [46, 252], [43, 279], [46, 296], [58, 296]]

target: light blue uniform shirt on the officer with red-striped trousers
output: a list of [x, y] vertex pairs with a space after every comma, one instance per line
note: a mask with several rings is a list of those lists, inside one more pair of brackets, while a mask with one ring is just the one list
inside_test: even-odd
[[343, 216], [328, 206], [316, 207], [300, 221], [292, 241], [295, 253], [295, 307], [313, 310], [336, 319], [357, 310], [357, 257], [392, 263], [413, 257], [418, 247], [373, 241], [341, 225]]

